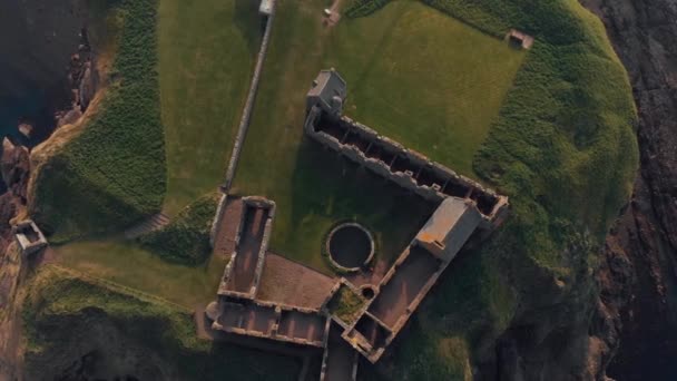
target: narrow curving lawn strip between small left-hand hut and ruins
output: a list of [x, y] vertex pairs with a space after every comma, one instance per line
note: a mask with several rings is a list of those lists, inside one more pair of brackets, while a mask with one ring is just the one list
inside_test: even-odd
[[200, 266], [169, 263], [138, 245], [119, 242], [76, 242], [53, 247], [59, 264], [112, 281], [188, 309], [216, 297], [226, 260], [212, 256]]

